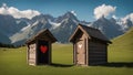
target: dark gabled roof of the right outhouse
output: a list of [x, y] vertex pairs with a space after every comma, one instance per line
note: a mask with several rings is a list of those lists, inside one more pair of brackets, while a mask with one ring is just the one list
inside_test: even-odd
[[94, 29], [94, 28], [90, 28], [90, 26], [86, 26], [86, 25], [82, 25], [82, 24], [78, 25], [78, 28], [75, 29], [74, 33], [69, 39], [70, 42], [73, 42], [73, 39], [78, 34], [76, 32], [79, 31], [79, 29], [82, 32], [84, 32], [89, 36], [89, 39], [94, 38], [94, 39], [104, 41], [106, 43], [111, 43], [111, 41], [100, 30]]

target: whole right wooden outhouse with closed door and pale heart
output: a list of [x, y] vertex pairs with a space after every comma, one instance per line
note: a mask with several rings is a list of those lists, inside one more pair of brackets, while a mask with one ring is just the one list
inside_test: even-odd
[[69, 39], [73, 43], [75, 65], [108, 63], [108, 45], [111, 43], [100, 30], [79, 24]]

